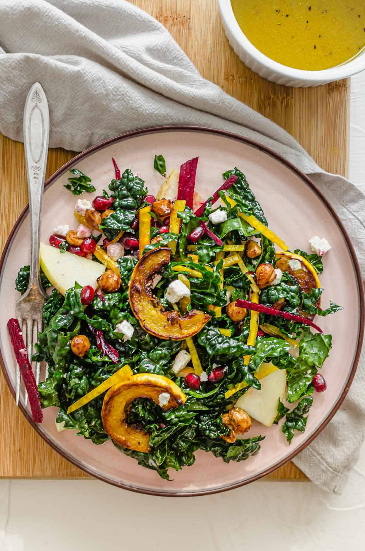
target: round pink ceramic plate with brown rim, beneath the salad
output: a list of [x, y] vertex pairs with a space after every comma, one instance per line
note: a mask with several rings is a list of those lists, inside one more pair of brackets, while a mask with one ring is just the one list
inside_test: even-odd
[[[216, 459], [211, 453], [198, 451], [192, 467], [178, 473], [170, 472], [168, 482], [158, 474], [138, 466], [137, 461], [119, 452], [110, 441], [95, 446], [74, 431], [57, 433], [56, 408], [44, 410], [45, 420], [34, 425], [29, 408], [20, 407], [39, 434], [55, 449], [85, 472], [105, 482], [147, 494], [187, 496], [202, 495], [247, 484], [265, 476], [291, 460], [319, 434], [339, 408], [353, 375], [361, 350], [364, 327], [364, 300], [361, 276], [355, 253], [345, 229], [326, 199], [310, 180], [277, 154], [248, 139], [194, 127], [161, 127], [144, 129], [110, 139], [79, 154], [58, 170], [46, 183], [42, 208], [41, 241], [47, 242], [58, 224], [77, 227], [73, 206], [77, 197], [66, 191], [68, 170], [77, 167], [92, 178], [96, 191], [107, 189], [114, 177], [111, 158], [114, 157], [123, 171], [131, 168], [146, 181], [149, 193], [157, 192], [163, 179], [153, 169], [155, 154], [163, 154], [167, 170], [179, 168], [187, 159], [199, 156], [197, 191], [203, 198], [212, 195], [222, 183], [222, 172], [238, 166], [246, 175], [250, 186], [264, 209], [270, 228], [284, 239], [289, 249], [308, 250], [308, 239], [313, 235], [326, 237], [332, 249], [324, 258], [321, 277], [323, 306], [329, 299], [344, 307], [335, 315], [320, 319], [325, 333], [332, 333], [333, 347], [325, 363], [324, 375], [328, 388], [316, 394], [310, 410], [307, 430], [297, 434], [291, 446], [280, 431], [254, 423], [250, 436], [262, 434], [261, 451], [248, 460], [229, 464]], [[84, 193], [83, 197], [88, 198]], [[94, 197], [94, 195], [93, 195]], [[0, 352], [2, 368], [10, 390], [15, 395], [14, 355], [10, 348], [6, 323], [15, 314], [18, 292], [14, 281], [18, 269], [29, 263], [28, 208], [20, 215], [9, 236], [1, 260]]]

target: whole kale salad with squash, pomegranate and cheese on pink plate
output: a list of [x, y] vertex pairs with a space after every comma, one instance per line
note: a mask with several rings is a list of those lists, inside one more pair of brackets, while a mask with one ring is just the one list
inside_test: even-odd
[[[291, 444], [314, 391], [326, 389], [319, 370], [331, 335], [314, 318], [341, 309], [320, 304], [330, 245], [315, 236], [311, 253], [289, 251], [238, 168], [205, 200], [198, 158], [166, 177], [155, 156], [164, 177], [156, 197], [112, 161], [108, 191], [77, 199], [77, 229], [60, 225], [41, 244], [50, 289], [32, 357], [47, 366], [38, 387], [18, 322], [8, 323], [34, 420], [55, 406], [57, 430], [111, 439], [164, 479], [197, 450], [227, 463], [254, 456], [260, 424], [280, 423]], [[67, 190], [96, 191], [71, 172]], [[24, 266], [20, 293], [28, 281]]]

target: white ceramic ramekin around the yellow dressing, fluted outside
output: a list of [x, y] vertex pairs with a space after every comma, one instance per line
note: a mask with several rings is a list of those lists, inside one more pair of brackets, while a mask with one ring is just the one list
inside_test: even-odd
[[218, 0], [218, 4], [229, 44], [240, 60], [260, 77], [286, 86], [308, 87], [351, 77], [365, 69], [365, 52], [348, 63], [322, 71], [303, 71], [282, 65], [265, 56], [248, 40], [234, 17], [230, 0]]

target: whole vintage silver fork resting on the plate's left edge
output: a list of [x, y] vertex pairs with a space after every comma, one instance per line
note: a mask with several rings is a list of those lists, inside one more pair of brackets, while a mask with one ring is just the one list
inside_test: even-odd
[[[23, 322], [26, 326], [25, 346], [29, 361], [33, 354], [33, 326], [36, 331], [42, 331], [42, 306], [46, 294], [42, 289], [39, 270], [39, 242], [40, 218], [46, 163], [48, 140], [50, 133], [50, 117], [47, 98], [39, 83], [33, 84], [25, 101], [24, 119], [24, 150], [26, 161], [26, 175], [28, 177], [29, 213], [30, 213], [30, 274], [29, 285], [24, 295], [17, 301], [17, 318], [23, 331]], [[24, 334], [24, 332], [23, 332]], [[35, 364], [35, 380], [39, 383], [41, 364]], [[20, 370], [17, 364], [16, 402], [20, 397]], [[25, 407], [28, 403], [28, 394], [25, 391]]]

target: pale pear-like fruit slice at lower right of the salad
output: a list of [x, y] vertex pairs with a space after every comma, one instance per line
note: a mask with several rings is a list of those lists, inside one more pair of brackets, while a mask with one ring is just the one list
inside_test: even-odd
[[250, 417], [265, 426], [271, 426], [277, 415], [277, 404], [283, 401], [286, 388], [286, 370], [276, 369], [261, 382], [261, 390], [250, 388], [235, 404], [243, 408]]

